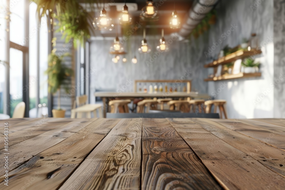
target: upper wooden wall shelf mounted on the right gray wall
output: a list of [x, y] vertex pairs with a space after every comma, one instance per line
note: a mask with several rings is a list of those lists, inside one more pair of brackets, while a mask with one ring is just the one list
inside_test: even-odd
[[256, 50], [256, 49], [253, 49], [253, 50], [250, 50], [250, 51], [238, 50], [238, 51], [236, 51], [234, 53], [231, 53], [231, 54], [229, 54], [227, 56], [219, 58], [218, 60], [215, 60], [214, 62], [212, 62], [210, 64], [204, 65], [204, 67], [205, 68], [217, 67], [219, 65], [228, 64], [228, 63], [231, 63], [231, 62], [233, 62], [235, 60], [247, 58], [249, 56], [258, 55], [258, 54], [261, 54], [261, 51], [260, 50]]

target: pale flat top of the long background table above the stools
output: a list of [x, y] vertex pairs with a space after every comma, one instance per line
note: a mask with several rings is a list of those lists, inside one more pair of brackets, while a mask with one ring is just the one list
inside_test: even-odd
[[134, 97], [134, 98], [139, 98], [139, 97], [150, 97], [150, 98], [155, 98], [155, 97], [191, 97], [191, 98], [209, 98], [210, 96], [208, 94], [201, 94], [198, 92], [172, 92], [172, 93], [138, 93], [138, 92], [95, 92], [94, 93], [95, 97], [108, 97], [108, 98], [113, 98], [113, 97]]

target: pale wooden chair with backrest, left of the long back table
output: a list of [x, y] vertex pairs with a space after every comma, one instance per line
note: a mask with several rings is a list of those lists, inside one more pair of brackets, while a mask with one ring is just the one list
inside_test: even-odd
[[[77, 96], [76, 101], [74, 101], [73, 109], [71, 110], [70, 118], [82, 118], [82, 113], [86, 113], [87, 118], [91, 118], [91, 112], [93, 112], [94, 117], [103, 117], [102, 106], [100, 104], [86, 104], [87, 95]], [[77, 108], [76, 108], [77, 105]]]

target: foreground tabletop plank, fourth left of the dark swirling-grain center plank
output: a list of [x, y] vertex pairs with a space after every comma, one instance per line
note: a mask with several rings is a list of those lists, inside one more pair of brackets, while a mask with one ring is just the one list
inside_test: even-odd
[[[55, 128], [61, 127], [69, 122], [74, 121], [74, 119], [68, 118], [44, 118], [36, 119], [34, 122], [28, 121], [23, 122], [22, 125], [18, 125], [17, 128], [23, 127], [22, 130], [15, 131], [9, 134], [9, 146], [38, 136], [46, 131], [53, 130]], [[13, 126], [11, 126], [13, 128]], [[0, 141], [4, 142], [5, 135], [0, 136]], [[3, 147], [4, 149], [4, 147]], [[2, 150], [2, 149], [1, 149]]]

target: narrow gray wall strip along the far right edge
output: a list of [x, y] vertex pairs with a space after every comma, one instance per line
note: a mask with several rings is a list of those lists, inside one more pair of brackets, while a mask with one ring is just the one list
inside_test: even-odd
[[274, 117], [285, 117], [285, 1], [274, 0]]

